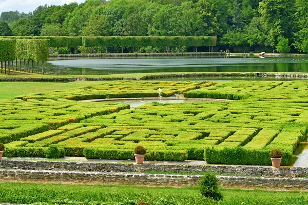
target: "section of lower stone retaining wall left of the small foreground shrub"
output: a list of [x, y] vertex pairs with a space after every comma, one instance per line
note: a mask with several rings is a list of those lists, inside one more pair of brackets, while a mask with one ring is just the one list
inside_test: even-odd
[[194, 186], [200, 175], [74, 172], [47, 170], [0, 170], [0, 181], [148, 186]]

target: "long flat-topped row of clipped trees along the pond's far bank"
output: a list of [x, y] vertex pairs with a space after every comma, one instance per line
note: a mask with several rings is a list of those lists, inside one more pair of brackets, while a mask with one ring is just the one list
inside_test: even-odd
[[170, 47], [178, 47], [183, 51], [183, 46], [194, 47], [194, 52], [197, 52], [197, 47], [216, 46], [217, 37], [213, 36], [97, 36], [97, 37], [68, 37], [68, 36], [0, 36], [0, 38], [16, 38], [16, 39], [49, 39], [49, 47], [57, 48], [59, 54], [60, 47], [76, 48], [79, 46], [102, 47], [131, 47], [137, 48], [139, 52], [140, 47], [166, 47], [169, 51]]

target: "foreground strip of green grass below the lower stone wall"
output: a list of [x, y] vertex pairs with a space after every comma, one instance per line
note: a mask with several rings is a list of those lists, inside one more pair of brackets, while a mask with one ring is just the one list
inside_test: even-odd
[[[143, 187], [119, 185], [61, 185], [0, 183], [0, 202], [55, 204], [307, 204], [307, 192], [221, 189], [223, 200], [204, 200], [198, 187]], [[196, 203], [197, 202], [197, 203]], [[43, 204], [43, 203], [40, 203]]]

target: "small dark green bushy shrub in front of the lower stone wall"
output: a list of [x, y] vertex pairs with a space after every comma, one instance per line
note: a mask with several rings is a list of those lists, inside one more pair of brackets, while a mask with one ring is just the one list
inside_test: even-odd
[[206, 172], [200, 179], [199, 190], [202, 196], [214, 200], [222, 199], [222, 194], [218, 191], [218, 179], [210, 172]]

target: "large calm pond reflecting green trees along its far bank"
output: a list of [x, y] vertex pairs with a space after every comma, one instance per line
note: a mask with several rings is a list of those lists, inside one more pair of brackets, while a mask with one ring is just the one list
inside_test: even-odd
[[308, 72], [308, 58], [108, 58], [61, 59], [45, 64], [53, 75], [160, 72]]

